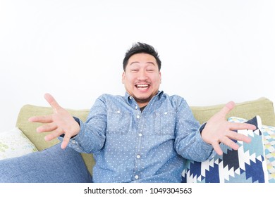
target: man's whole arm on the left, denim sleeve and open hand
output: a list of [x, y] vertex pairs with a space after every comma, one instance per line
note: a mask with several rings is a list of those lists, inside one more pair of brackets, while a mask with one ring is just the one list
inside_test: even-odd
[[67, 110], [61, 108], [50, 94], [44, 96], [53, 108], [52, 115], [30, 117], [30, 122], [46, 123], [37, 128], [37, 132], [51, 132], [45, 136], [46, 141], [62, 136], [61, 148], [66, 148], [70, 141], [79, 152], [90, 153], [104, 146], [106, 130], [106, 106], [102, 99], [97, 99], [91, 109], [87, 122], [73, 117]]

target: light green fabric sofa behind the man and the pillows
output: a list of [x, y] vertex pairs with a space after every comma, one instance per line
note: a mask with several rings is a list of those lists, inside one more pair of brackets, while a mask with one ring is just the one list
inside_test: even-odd
[[[209, 120], [212, 115], [218, 112], [224, 104], [216, 106], [191, 106], [193, 113], [197, 120], [201, 123]], [[72, 110], [68, 111], [75, 117], [79, 117], [82, 121], [85, 121], [89, 110]], [[44, 141], [45, 134], [37, 133], [36, 128], [39, 127], [39, 123], [28, 122], [28, 118], [35, 115], [48, 115], [51, 114], [50, 107], [25, 105], [20, 109], [18, 114], [18, 120], [16, 126], [27, 136], [30, 141], [37, 147], [39, 151], [44, 150], [54, 144], [59, 143], [59, 140], [53, 140], [50, 142]], [[263, 125], [270, 125], [275, 127], [275, 114], [273, 103], [268, 98], [259, 98], [255, 101], [246, 101], [243, 103], [236, 103], [236, 107], [228, 114], [228, 117], [236, 116], [250, 119], [259, 115], [262, 119]], [[94, 159], [92, 154], [82, 153], [82, 158], [89, 172], [92, 174], [92, 167], [94, 165]]]

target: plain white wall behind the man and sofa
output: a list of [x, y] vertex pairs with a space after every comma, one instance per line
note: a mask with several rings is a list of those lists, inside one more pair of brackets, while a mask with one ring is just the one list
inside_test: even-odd
[[191, 106], [275, 102], [275, 1], [0, 0], [0, 121], [11, 129], [24, 104], [90, 108], [124, 94], [122, 60], [152, 44], [161, 89]]

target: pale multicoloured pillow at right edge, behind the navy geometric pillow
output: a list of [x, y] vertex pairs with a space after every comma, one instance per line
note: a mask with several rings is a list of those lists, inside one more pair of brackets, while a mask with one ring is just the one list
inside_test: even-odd
[[[229, 122], [246, 122], [241, 117], [229, 117]], [[264, 155], [267, 160], [267, 171], [269, 172], [269, 183], [275, 183], [275, 127], [262, 125], [259, 128], [264, 141]]]

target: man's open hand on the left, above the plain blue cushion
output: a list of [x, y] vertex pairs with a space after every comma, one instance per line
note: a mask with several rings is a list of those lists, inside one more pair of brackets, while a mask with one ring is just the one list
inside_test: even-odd
[[54, 113], [51, 115], [30, 117], [29, 121], [47, 123], [37, 127], [37, 132], [51, 132], [45, 136], [46, 141], [51, 141], [52, 139], [59, 137], [61, 134], [65, 134], [61, 143], [61, 148], [66, 148], [71, 136], [75, 136], [80, 131], [80, 126], [67, 110], [59, 106], [59, 103], [56, 102], [51, 94], [45, 94], [44, 98], [50, 104]]

